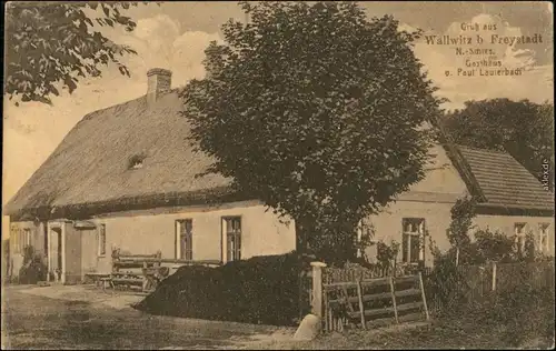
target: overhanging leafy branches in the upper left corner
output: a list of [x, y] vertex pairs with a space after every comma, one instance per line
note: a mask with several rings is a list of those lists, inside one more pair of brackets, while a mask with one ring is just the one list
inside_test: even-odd
[[[121, 12], [138, 2], [17, 2], [7, 6], [4, 94], [50, 103], [58, 88], [70, 93], [79, 79], [98, 77], [112, 62], [129, 76], [119, 57], [136, 53], [93, 29], [93, 24], [132, 31], [136, 22]], [[98, 16], [89, 17], [90, 13]], [[58, 87], [58, 88], [57, 88]]]

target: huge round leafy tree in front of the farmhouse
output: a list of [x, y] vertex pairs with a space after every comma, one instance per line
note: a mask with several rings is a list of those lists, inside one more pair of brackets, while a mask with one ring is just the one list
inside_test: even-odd
[[241, 2], [207, 78], [181, 93], [208, 172], [296, 221], [301, 248], [355, 255], [359, 220], [424, 177], [441, 102], [415, 58], [419, 34], [353, 2]]

